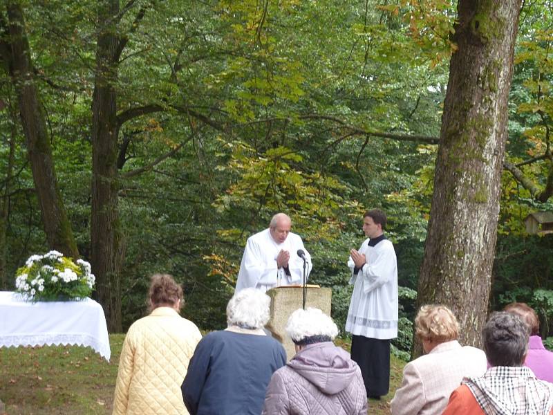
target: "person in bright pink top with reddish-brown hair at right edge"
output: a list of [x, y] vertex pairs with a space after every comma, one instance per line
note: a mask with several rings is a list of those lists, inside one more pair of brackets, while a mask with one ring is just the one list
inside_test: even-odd
[[539, 335], [540, 320], [536, 311], [528, 304], [518, 302], [507, 304], [503, 311], [518, 315], [530, 328], [528, 354], [524, 365], [532, 369], [536, 378], [553, 383], [553, 352], [543, 347]]

